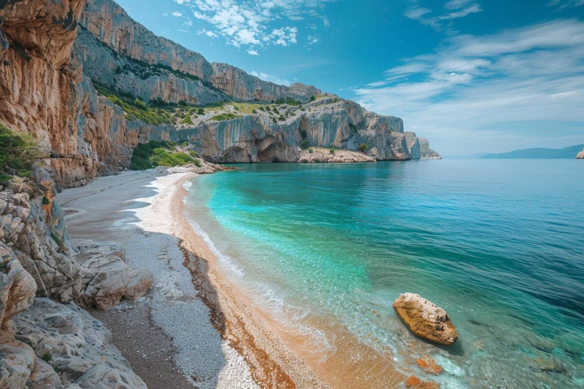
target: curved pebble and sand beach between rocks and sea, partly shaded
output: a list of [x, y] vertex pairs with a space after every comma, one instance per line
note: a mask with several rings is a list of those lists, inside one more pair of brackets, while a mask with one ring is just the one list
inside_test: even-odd
[[128, 267], [154, 274], [142, 299], [91, 313], [151, 388], [328, 388], [225, 279], [187, 222], [183, 184], [195, 177], [128, 171], [60, 194], [73, 239], [124, 244]]

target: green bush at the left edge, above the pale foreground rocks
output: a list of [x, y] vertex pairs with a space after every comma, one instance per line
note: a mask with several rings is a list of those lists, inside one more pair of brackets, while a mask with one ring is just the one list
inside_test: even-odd
[[0, 183], [30, 177], [33, 163], [47, 157], [32, 136], [14, 132], [0, 123]]

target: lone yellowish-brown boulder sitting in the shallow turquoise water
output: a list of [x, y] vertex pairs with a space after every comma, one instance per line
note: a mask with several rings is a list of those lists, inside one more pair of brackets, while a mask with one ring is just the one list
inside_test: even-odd
[[443, 345], [458, 339], [456, 327], [442, 308], [413, 293], [399, 295], [394, 309], [410, 331], [419, 337]]

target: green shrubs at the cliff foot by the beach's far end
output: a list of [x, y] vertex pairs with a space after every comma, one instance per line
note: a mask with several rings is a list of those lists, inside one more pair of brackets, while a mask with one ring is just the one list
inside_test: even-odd
[[181, 149], [176, 143], [168, 141], [150, 141], [140, 143], [132, 153], [130, 161], [131, 170], [146, 170], [157, 166], [182, 166], [187, 163], [200, 165], [200, 160], [194, 157], [196, 153], [190, 153]]

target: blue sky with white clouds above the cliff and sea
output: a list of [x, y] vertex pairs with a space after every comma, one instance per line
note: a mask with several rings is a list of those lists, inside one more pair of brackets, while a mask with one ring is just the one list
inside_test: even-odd
[[443, 155], [584, 143], [584, 0], [117, 0], [155, 34], [404, 119]]

